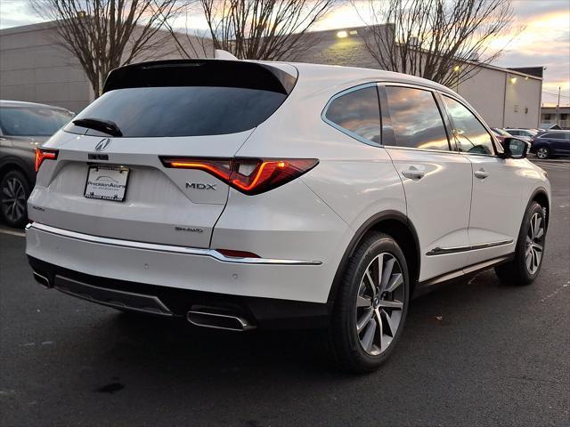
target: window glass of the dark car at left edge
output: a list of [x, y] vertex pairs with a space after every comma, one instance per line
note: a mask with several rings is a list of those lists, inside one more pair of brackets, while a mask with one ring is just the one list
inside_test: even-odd
[[71, 117], [61, 109], [0, 107], [0, 128], [6, 136], [52, 136]]

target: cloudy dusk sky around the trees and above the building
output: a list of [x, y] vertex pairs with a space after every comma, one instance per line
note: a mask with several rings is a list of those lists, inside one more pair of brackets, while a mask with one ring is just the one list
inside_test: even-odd
[[[345, 4], [343, 4], [345, 3]], [[556, 105], [561, 87], [561, 105], [570, 104], [570, 2], [568, 0], [515, 0], [512, 2], [516, 25], [524, 31], [506, 46], [506, 51], [493, 65], [499, 67], [546, 67], [542, 101]], [[364, 15], [364, 8], [361, 14]], [[359, 13], [348, 2], [319, 22], [316, 29], [344, 28], [363, 25]], [[0, 28], [16, 27], [42, 21], [28, 5], [28, 0], [0, 0]], [[205, 20], [191, 17], [192, 28], [205, 28]], [[510, 37], [509, 37], [510, 38]], [[502, 48], [506, 39], [493, 41], [491, 48]]]

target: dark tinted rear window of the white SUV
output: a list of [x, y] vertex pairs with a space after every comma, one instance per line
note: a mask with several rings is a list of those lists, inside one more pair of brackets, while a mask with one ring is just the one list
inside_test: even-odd
[[[113, 122], [124, 137], [200, 136], [253, 129], [285, 101], [285, 93], [220, 86], [115, 89], [76, 119]], [[71, 133], [93, 133], [69, 124]]]

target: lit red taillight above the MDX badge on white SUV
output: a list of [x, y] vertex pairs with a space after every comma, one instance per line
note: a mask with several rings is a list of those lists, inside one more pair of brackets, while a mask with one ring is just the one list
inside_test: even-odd
[[248, 195], [275, 189], [310, 171], [319, 163], [316, 158], [160, 157], [160, 160], [166, 167], [198, 169], [210, 173]]

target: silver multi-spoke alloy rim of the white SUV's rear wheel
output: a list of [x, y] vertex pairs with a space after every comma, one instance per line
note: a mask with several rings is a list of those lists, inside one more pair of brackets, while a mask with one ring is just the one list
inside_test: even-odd
[[395, 256], [379, 254], [368, 265], [356, 297], [356, 334], [362, 350], [378, 356], [400, 327], [405, 301], [403, 272]]

